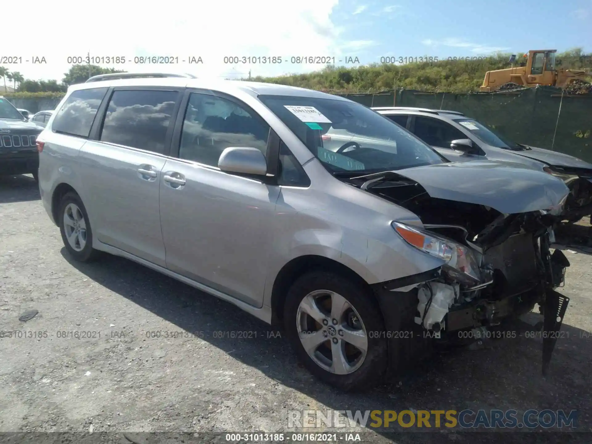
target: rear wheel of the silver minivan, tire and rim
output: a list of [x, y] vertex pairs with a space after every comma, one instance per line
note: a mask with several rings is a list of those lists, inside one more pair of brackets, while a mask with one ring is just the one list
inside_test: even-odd
[[79, 195], [66, 193], [57, 214], [62, 240], [70, 256], [79, 262], [96, 259], [99, 252], [92, 247], [91, 223]]

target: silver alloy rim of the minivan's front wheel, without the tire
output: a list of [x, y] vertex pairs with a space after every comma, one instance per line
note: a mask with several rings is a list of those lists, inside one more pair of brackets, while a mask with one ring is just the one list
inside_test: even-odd
[[355, 372], [366, 358], [368, 334], [358, 311], [329, 290], [307, 294], [298, 305], [298, 336], [321, 368], [337, 375]]

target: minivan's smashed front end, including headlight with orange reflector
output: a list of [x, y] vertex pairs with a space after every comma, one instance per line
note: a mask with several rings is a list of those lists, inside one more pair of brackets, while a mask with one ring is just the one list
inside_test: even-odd
[[[398, 314], [385, 320], [391, 363], [416, 355], [417, 337], [440, 342], [477, 337], [539, 304], [545, 375], [569, 302], [555, 289], [563, 285], [570, 263], [561, 250], [551, 253], [552, 226], [567, 191], [545, 210], [529, 204], [516, 212], [507, 205], [495, 209], [475, 203], [478, 199], [464, 199], [454, 190], [439, 192], [408, 171], [348, 181], [419, 216], [423, 226], [393, 221], [392, 227], [411, 246], [443, 260], [439, 268], [375, 285], [382, 309]], [[442, 198], [449, 195], [460, 200]]]

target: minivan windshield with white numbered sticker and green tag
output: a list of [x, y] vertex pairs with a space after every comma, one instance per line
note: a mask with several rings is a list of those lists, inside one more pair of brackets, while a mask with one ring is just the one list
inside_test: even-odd
[[413, 134], [363, 105], [299, 96], [259, 99], [331, 173], [362, 175], [445, 162]]

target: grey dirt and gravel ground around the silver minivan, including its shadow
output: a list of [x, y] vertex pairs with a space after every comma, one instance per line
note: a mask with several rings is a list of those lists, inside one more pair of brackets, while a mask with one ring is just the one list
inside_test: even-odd
[[[435, 355], [413, 377], [371, 392], [341, 394], [298, 365], [281, 332], [229, 303], [114, 256], [73, 263], [36, 182], [0, 178], [0, 330], [23, 332], [0, 339], [0, 432], [111, 432], [108, 442], [140, 443], [150, 435], [132, 432], [286, 431], [289, 410], [549, 408], [578, 410], [580, 433], [358, 432], [362, 442], [522, 442], [526, 434], [590, 442], [592, 255], [562, 249], [571, 261], [561, 289], [570, 306], [548, 377], [542, 340], [519, 332], [481, 350]], [[19, 320], [33, 309], [35, 317]], [[69, 436], [54, 441], [87, 442]]]

